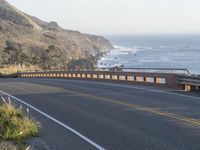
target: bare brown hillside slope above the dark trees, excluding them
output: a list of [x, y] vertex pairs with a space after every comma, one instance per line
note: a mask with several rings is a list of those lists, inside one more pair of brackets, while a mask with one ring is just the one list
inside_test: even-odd
[[8, 40], [20, 45], [30, 58], [40, 57], [50, 45], [68, 60], [87, 58], [112, 48], [103, 37], [63, 29], [56, 22], [42, 21], [0, 0], [0, 50]]

